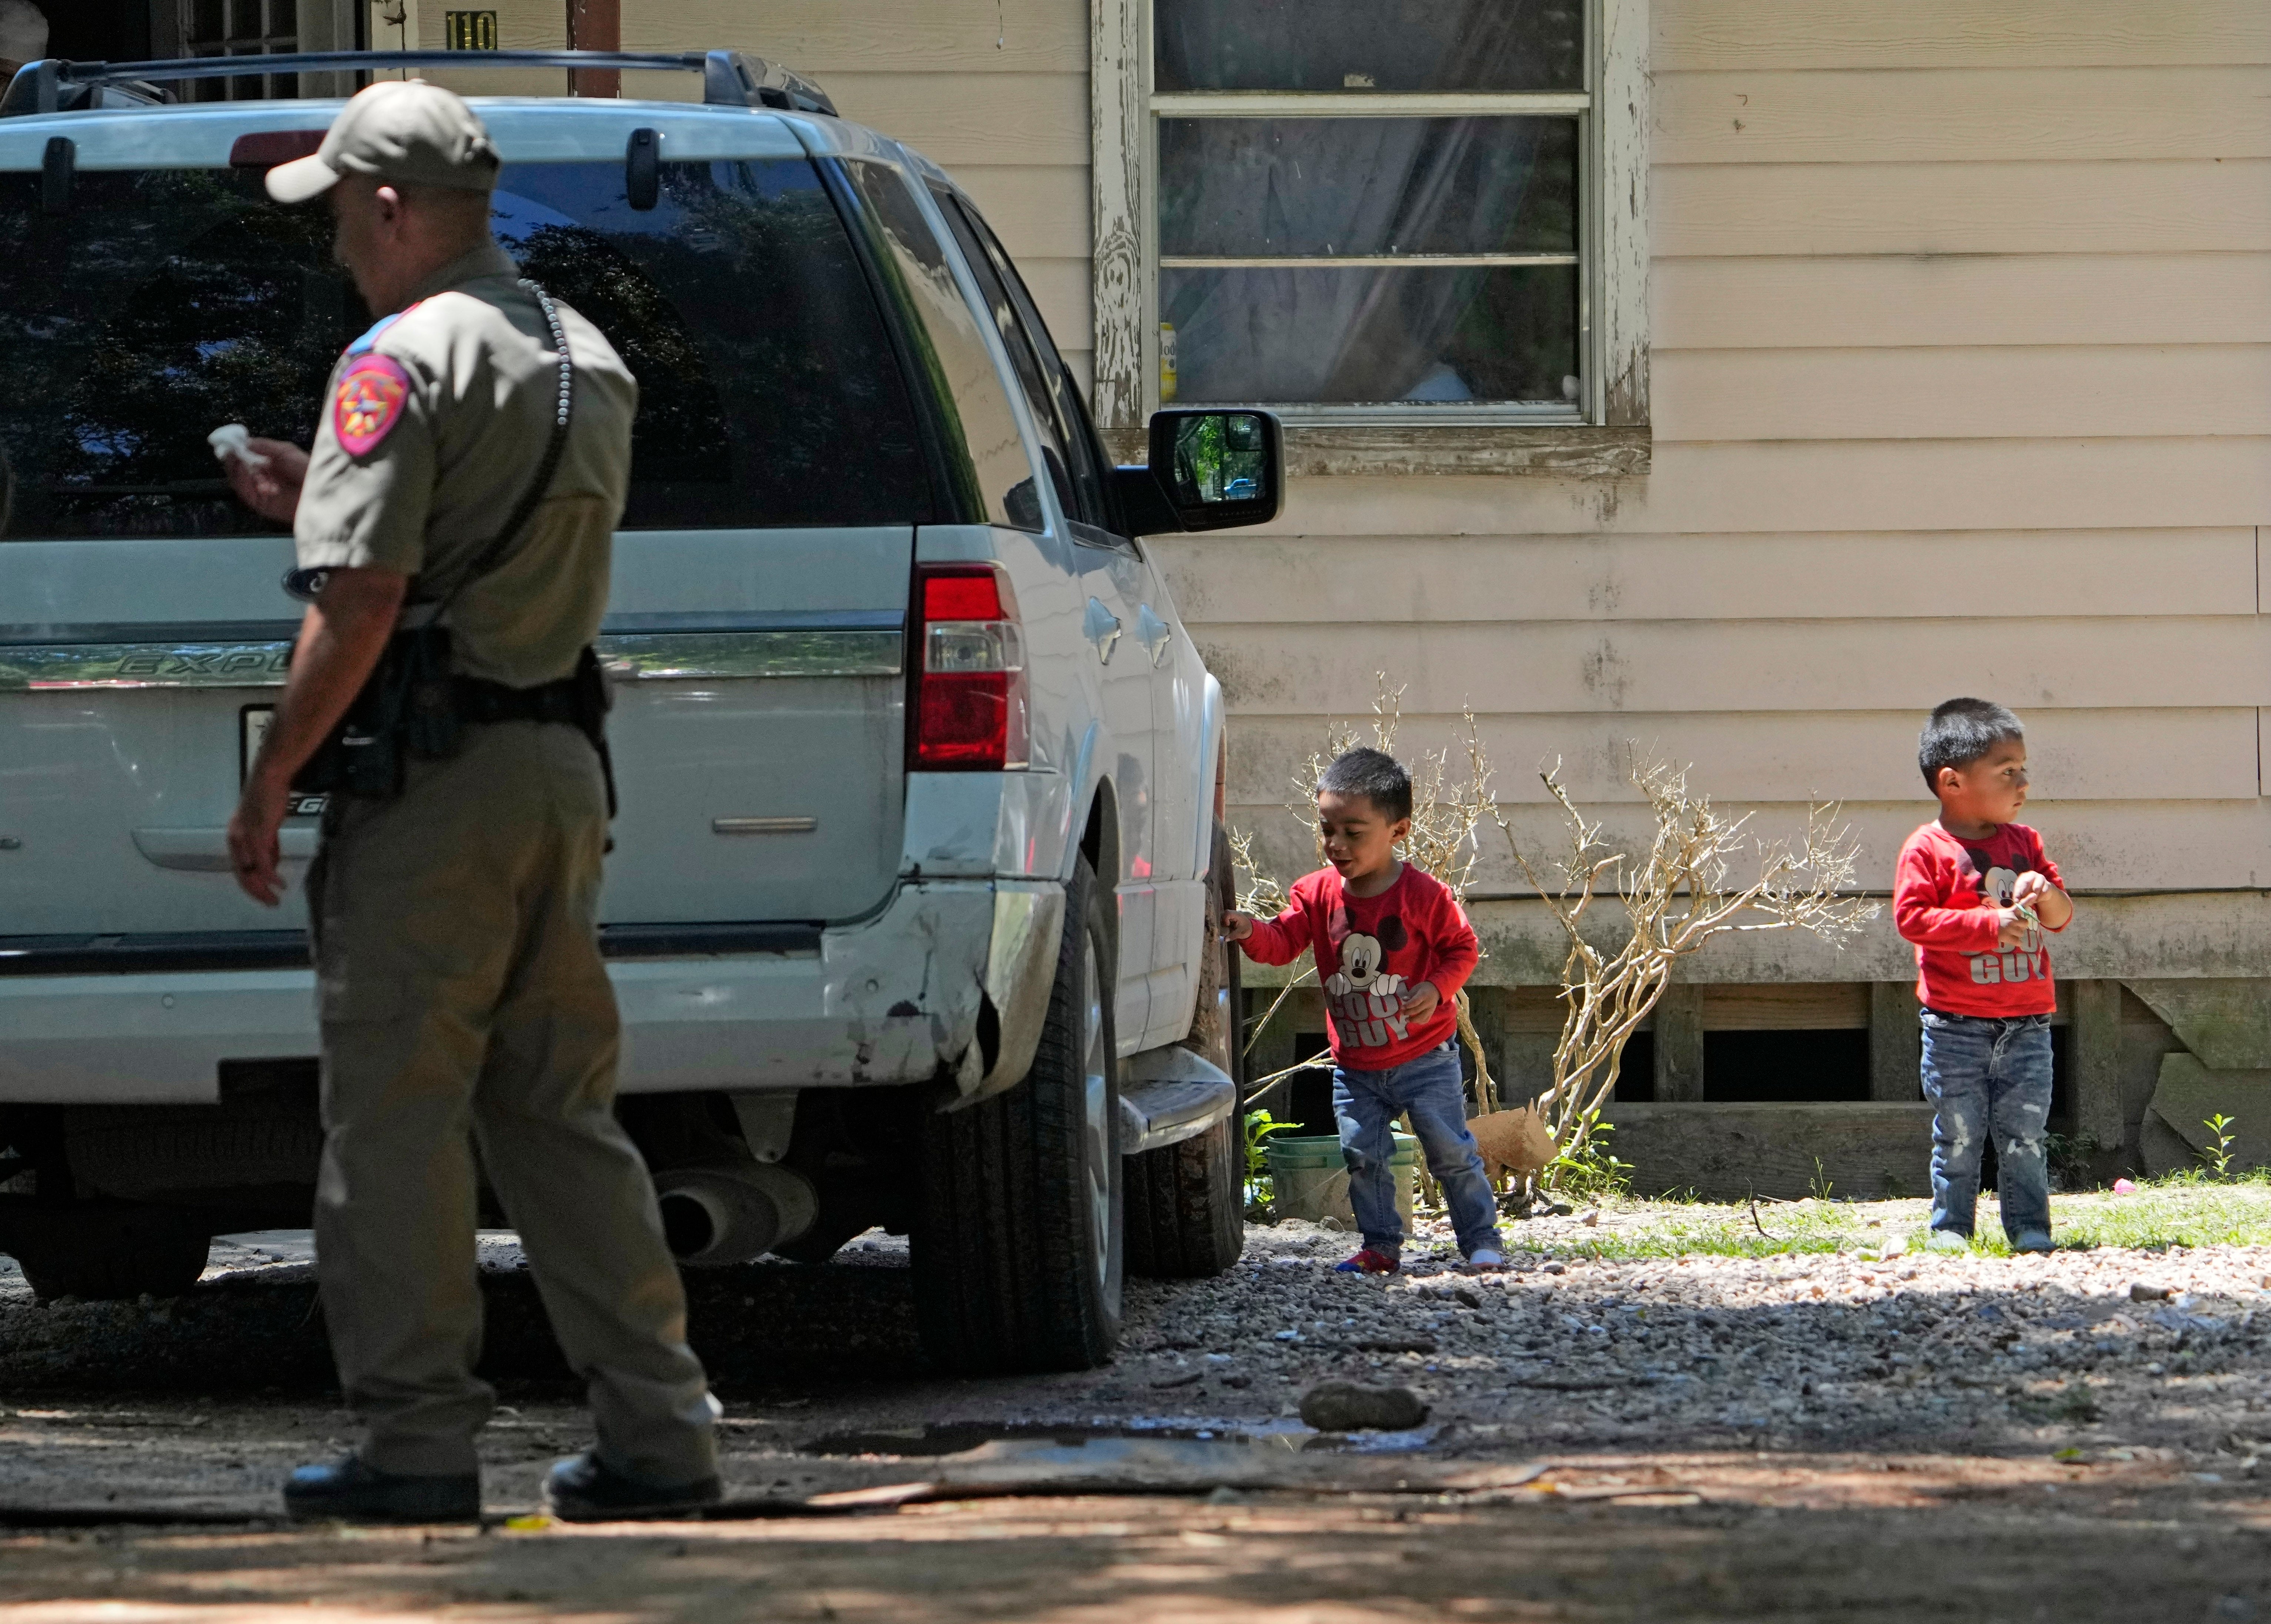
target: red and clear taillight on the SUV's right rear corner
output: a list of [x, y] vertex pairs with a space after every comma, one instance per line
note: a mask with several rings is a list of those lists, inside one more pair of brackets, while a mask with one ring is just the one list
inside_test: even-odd
[[915, 647], [913, 765], [1002, 772], [1024, 765], [1024, 631], [990, 563], [924, 566]]

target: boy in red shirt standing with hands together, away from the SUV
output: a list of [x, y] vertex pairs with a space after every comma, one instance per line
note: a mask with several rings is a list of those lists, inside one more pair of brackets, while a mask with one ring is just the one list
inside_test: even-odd
[[2026, 729], [1987, 700], [1949, 700], [1917, 747], [1939, 818], [1908, 836], [1892, 918], [1917, 945], [1924, 1095], [1933, 1102], [1935, 1252], [1964, 1252], [1994, 1136], [2003, 1231], [2014, 1252], [2051, 1249], [2051, 952], [2073, 902], [2026, 806]]

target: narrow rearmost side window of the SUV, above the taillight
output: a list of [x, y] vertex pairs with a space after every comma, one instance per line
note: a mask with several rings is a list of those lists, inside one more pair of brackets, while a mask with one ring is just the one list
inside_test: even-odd
[[886, 275], [915, 313], [933, 393], [952, 416], [949, 432], [961, 438], [961, 457], [949, 457], [958, 477], [977, 482], [974, 495], [986, 516], [1015, 529], [1042, 529], [1040, 497], [1033, 495], [1033, 466], [1011, 411], [1008, 391], [995, 370], [992, 352], [979, 334], [977, 316], [963, 300], [961, 284], [947, 268], [947, 254], [931, 234], [906, 177], [886, 164], [845, 164], [881, 232]]

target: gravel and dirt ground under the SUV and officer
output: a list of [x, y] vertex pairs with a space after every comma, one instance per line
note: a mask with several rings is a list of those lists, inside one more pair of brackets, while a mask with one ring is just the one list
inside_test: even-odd
[[[509, 1236], [479, 1531], [275, 1522], [352, 1440], [304, 1236], [170, 1304], [0, 1270], [0, 1615], [2271, 1619], [2271, 1254], [1601, 1263], [1578, 1222], [1399, 1281], [1256, 1229], [1131, 1286], [1113, 1367], [1015, 1381], [922, 1367], [888, 1238], [697, 1274], [731, 1506], [581, 1531], [527, 1517], [588, 1426]], [[1313, 1433], [1324, 1376], [1428, 1424]]]

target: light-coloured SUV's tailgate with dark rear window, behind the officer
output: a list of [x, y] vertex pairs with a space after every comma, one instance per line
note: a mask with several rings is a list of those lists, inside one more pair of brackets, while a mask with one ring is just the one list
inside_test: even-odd
[[[497, 236], [609, 334], [643, 391], [602, 647], [625, 677], [604, 915], [868, 913], [899, 859], [902, 622], [931, 500], [874, 295], [818, 173], [770, 120], [731, 116], [763, 157], [663, 164], [659, 204], [634, 211], [620, 157], [511, 161], [531, 116], [497, 120]], [[613, 104], [604, 143], [620, 152], [622, 127], [663, 116], [684, 109]], [[204, 116], [161, 118], [188, 132]], [[257, 170], [152, 168], [164, 159], [139, 150], [139, 168], [107, 168], [84, 145], [61, 218], [43, 214], [36, 170], [0, 173], [14, 938], [300, 922], [298, 904], [279, 918], [236, 893], [220, 840], [298, 618], [279, 593], [291, 545], [245, 534], [259, 527], [204, 434], [243, 420], [307, 443], [332, 357], [368, 313], [320, 211], [270, 204]], [[313, 818], [286, 840], [311, 849]]]

